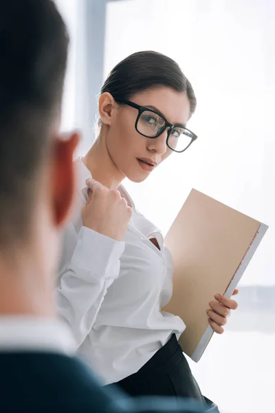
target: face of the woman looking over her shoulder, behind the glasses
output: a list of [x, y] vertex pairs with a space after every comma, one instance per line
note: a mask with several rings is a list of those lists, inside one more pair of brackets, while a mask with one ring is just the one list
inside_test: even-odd
[[[187, 94], [175, 92], [168, 87], [146, 89], [131, 96], [129, 100], [157, 110], [173, 125], [186, 125], [190, 116]], [[153, 139], [140, 135], [135, 130], [137, 115], [138, 110], [134, 107], [113, 102], [106, 145], [120, 173], [133, 182], [142, 182], [173, 151], [166, 145], [167, 129]], [[175, 156], [181, 154], [175, 153]]]

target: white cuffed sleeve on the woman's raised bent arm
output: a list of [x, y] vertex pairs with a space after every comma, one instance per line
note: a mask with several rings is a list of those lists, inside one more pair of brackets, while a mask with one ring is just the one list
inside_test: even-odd
[[76, 233], [69, 223], [63, 237], [57, 302], [77, 348], [89, 334], [107, 288], [118, 277], [124, 242], [112, 240], [85, 226]]

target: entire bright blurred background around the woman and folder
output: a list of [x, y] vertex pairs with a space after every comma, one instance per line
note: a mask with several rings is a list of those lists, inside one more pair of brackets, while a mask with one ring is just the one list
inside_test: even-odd
[[[190, 366], [222, 413], [274, 411], [275, 3], [272, 0], [56, 0], [71, 36], [62, 127], [95, 138], [100, 86], [133, 52], [179, 63], [199, 137], [142, 184], [125, 186], [166, 233], [193, 187], [270, 226], [241, 280], [239, 309]], [[152, 196], [153, 193], [153, 196]], [[272, 407], [273, 406], [273, 407]]]

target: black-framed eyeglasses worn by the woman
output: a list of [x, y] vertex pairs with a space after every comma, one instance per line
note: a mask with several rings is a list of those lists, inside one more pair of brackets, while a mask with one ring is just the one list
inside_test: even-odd
[[173, 125], [169, 123], [162, 114], [146, 106], [140, 106], [131, 100], [117, 100], [116, 102], [135, 107], [138, 110], [137, 120], [135, 121], [135, 130], [146, 138], [157, 138], [167, 128], [166, 145], [172, 151], [181, 153], [190, 147], [191, 143], [197, 139], [189, 129], [182, 125]]

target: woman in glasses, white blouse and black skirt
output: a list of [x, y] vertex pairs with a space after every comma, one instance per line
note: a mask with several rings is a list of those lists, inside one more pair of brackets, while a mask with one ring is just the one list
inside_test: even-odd
[[[76, 160], [83, 209], [65, 231], [58, 306], [105, 385], [205, 403], [177, 343], [184, 321], [161, 311], [172, 293], [169, 251], [121, 186], [182, 156], [197, 138], [186, 128], [195, 107], [190, 82], [167, 56], [138, 52], [111, 71], [99, 99], [100, 134]], [[236, 301], [216, 298], [208, 317], [221, 333]]]

